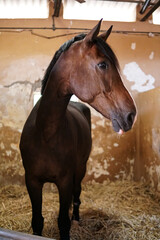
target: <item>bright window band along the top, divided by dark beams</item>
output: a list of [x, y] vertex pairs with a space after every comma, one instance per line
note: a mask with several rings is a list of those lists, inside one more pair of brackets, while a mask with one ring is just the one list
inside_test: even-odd
[[117, 22], [151, 19], [153, 23], [160, 24], [160, 0], [2, 0], [0, 18], [48, 18], [49, 3], [54, 5], [53, 16], [59, 17], [63, 13], [64, 19], [103, 18]]

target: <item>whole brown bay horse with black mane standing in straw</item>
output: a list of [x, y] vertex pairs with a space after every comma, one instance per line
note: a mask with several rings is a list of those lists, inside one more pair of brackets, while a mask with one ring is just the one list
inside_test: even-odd
[[112, 26], [99, 33], [101, 22], [57, 50], [42, 81], [42, 96], [22, 131], [20, 151], [35, 235], [42, 234], [42, 188], [46, 182], [55, 183], [59, 192], [60, 239], [69, 240], [71, 220], [79, 221], [81, 181], [92, 145], [91, 114], [83, 103], [70, 102], [71, 96], [75, 94], [110, 119], [117, 133], [130, 130], [135, 121], [134, 100], [106, 42]]

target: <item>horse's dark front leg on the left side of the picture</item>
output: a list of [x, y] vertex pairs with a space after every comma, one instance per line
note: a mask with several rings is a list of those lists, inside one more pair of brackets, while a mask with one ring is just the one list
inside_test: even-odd
[[44, 218], [42, 216], [43, 184], [26, 175], [26, 187], [32, 204], [32, 229], [34, 235], [42, 235]]

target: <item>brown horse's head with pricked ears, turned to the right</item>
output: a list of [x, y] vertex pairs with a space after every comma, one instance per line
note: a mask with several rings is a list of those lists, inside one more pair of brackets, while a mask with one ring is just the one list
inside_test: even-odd
[[112, 27], [98, 35], [100, 26], [101, 21], [64, 53], [68, 91], [110, 119], [116, 132], [123, 133], [132, 128], [136, 107], [122, 82], [118, 60], [106, 43]]

